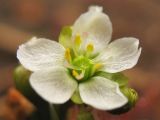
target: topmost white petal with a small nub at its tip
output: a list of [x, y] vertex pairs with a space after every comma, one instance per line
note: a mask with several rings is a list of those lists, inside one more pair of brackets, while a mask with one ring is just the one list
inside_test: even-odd
[[93, 43], [96, 49], [101, 50], [111, 39], [112, 23], [108, 15], [102, 12], [102, 7], [92, 6], [74, 23], [73, 36], [76, 34], [82, 35], [84, 41]]

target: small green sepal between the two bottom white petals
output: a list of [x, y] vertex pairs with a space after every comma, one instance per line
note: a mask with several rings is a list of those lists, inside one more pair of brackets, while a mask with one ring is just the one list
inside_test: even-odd
[[73, 93], [72, 97], [71, 97], [72, 102], [74, 102], [75, 104], [83, 104], [83, 101], [81, 99], [80, 93], [78, 88], [76, 89], [76, 91]]

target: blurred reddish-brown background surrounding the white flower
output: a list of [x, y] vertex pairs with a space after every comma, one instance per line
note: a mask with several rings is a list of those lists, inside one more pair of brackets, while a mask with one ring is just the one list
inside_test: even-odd
[[13, 90], [18, 46], [32, 36], [58, 40], [61, 28], [90, 5], [110, 16], [113, 40], [133, 36], [143, 48], [136, 67], [124, 72], [140, 95], [135, 108], [120, 116], [95, 110], [96, 120], [160, 120], [160, 0], [0, 0], [0, 120], [22, 120], [20, 112], [30, 108], [25, 100], [18, 110], [9, 104], [19, 95]]

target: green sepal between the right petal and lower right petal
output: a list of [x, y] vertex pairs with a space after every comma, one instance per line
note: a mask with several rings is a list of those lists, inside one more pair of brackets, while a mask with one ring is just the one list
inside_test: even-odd
[[128, 84], [128, 78], [123, 73], [107, 73], [104, 71], [99, 71], [96, 73], [96, 76], [101, 76], [112, 80], [119, 84], [120, 87], [126, 86]]

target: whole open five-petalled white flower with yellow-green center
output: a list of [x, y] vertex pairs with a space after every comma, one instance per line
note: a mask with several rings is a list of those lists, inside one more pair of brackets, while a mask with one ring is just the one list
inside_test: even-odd
[[19, 46], [17, 58], [33, 73], [31, 86], [45, 100], [61, 104], [78, 89], [82, 101], [101, 110], [127, 103], [119, 85], [97, 71], [120, 72], [136, 65], [139, 40], [121, 38], [111, 43], [112, 24], [102, 7], [90, 7], [72, 26], [72, 37], [62, 44], [32, 38]]

